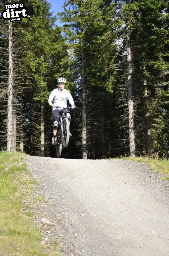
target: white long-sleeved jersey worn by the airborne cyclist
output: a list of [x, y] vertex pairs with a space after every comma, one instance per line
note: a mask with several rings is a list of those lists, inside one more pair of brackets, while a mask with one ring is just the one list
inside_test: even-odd
[[[63, 91], [60, 91], [59, 88], [54, 89], [48, 99], [49, 105], [52, 103], [56, 107], [66, 108], [67, 107], [67, 101], [70, 102], [71, 106], [74, 106], [74, 100], [72, 98], [72, 95], [70, 92], [66, 89], [63, 89]], [[52, 108], [54, 110], [55, 108]]]

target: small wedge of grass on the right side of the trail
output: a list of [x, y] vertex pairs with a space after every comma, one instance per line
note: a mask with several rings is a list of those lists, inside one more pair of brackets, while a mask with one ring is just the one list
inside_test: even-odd
[[133, 160], [143, 162], [149, 165], [150, 169], [157, 170], [164, 174], [165, 179], [169, 180], [169, 160], [158, 157], [158, 154], [150, 157], [120, 157], [122, 160]]

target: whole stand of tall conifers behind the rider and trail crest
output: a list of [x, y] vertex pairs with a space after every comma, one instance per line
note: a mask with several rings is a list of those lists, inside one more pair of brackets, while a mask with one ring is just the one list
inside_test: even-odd
[[62, 158], [168, 158], [169, 0], [65, 0], [55, 16], [21, 2], [30, 18], [0, 15], [0, 151], [56, 157], [48, 97], [64, 77], [76, 109]]

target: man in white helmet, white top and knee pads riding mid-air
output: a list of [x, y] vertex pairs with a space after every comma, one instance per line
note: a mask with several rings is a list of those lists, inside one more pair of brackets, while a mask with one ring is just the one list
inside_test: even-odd
[[[66, 79], [63, 77], [60, 77], [58, 79], [59, 88], [54, 89], [50, 93], [49, 99], [48, 99], [48, 103], [52, 108], [52, 117], [51, 117], [51, 121], [53, 123], [52, 124], [52, 127], [53, 127], [52, 145], [55, 145], [56, 143], [56, 133], [57, 133], [57, 128], [58, 128], [59, 119], [60, 119], [60, 110], [64, 108], [64, 112], [66, 113], [66, 116], [70, 123], [71, 116], [70, 116], [70, 111], [66, 108], [67, 101], [69, 101], [72, 107], [76, 108], [72, 95], [68, 90], [64, 89], [65, 84], [66, 84]], [[58, 108], [56, 109], [54, 108], [54, 106]], [[70, 133], [69, 136], [72, 136], [72, 134]]]

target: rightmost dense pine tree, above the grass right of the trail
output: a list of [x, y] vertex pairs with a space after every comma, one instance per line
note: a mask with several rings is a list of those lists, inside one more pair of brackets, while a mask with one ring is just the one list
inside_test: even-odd
[[[140, 131], [145, 133], [145, 151], [149, 154], [150, 149], [155, 151], [161, 149], [161, 143], [158, 144], [161, 140], [160, 134], [163, 133], [164, 138], [166, 137], [162, 132], [166, 123], [165, 112], [162, 108], [164, 105], [162, 94], [163, 90], [166, 90], [163, 73], [168, 69], [165, 56], [168, 31], [165, 29], [166, 15], [164, 14], [167, 4], [163, 0], [154, 1], [153, 4], [152, 1], [147, 0], [136, 2], [136, 5], [139, 15], [136, 16], [137, 24], [133, 30], [133, 50], [135, 51], [134, 61], [140, 64], [139, 66], [136, 64], [138, 74], [135, 81], [138, 83], [137, 88], [141, 81], [142, 94], [145, 98], [145, 103], [141, 100], [142, 106], [144, 105], [145, 118], [142, 119], [142, 124], [145, 125], [145, 129], [142, 129], [141, 125]], [[136, 48], [135, 43], [138, 41], [140, 45]], [[161, 87], [162, 84], [164, 89]], [[140, 97], [142, 98], [142, 95]]]

